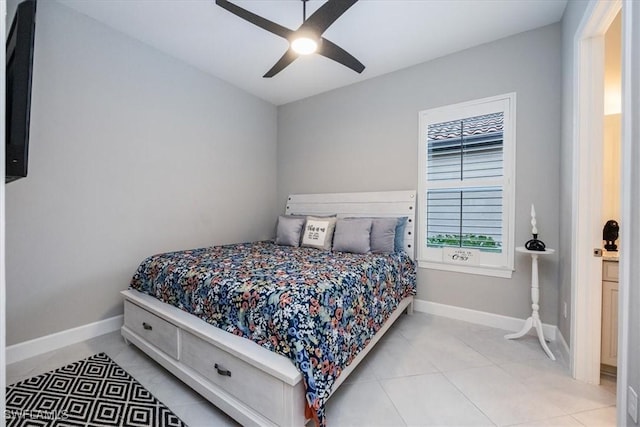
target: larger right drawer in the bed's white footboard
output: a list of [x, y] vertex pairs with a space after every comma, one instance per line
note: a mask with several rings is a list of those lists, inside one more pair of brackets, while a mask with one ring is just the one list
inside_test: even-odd
[[277, 378], [184, 331], [181, 360], [275, 424], [282, 424], [284, 385]]

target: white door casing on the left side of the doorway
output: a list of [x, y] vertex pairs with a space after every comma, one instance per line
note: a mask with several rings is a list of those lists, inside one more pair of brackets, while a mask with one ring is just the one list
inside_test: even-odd
[[604, 33], [621, 7], [592, 1], [574, 39], [571, 369], [591, 384], [600, 383], [602, 263], [593, 249], [602, 246]]

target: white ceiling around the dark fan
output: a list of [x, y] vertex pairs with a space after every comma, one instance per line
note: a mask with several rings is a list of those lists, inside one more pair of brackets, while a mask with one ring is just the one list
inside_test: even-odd
[[[558, 22], [567, 0], [360, 0], [324, 37], [366, 68], [362, 74], [319, 55], [262, 75], [286, 40], [246, 22], [214, 0], [58, 0], [275, 105], [306, 98], [430, 59]], [[232, 0], [292, 30], [299, 0]], [[307, 16], [323, 0], [307, 4]]]

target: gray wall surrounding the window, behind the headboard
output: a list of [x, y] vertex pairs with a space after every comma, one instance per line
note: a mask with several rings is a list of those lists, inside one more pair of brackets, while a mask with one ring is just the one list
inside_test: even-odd
[[[278, 201], [289, 193], [416, 189], [418, 112], [517, 93], [516, 243], [559, 244], [561, 28], [554, 24], [278, 108]], [[418, 298], [531, 314], [530, 259], [513, 278], [420, 269]], [[558, 322], [558, 262], [540, 263], [541, 317]]]

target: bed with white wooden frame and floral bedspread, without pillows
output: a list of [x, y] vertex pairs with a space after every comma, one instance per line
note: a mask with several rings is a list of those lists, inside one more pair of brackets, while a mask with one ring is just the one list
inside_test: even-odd
[[292, 195], [292, 218], [406, 217], [404, 251], [265, 241], [154, 255], [123, 291], [122, 335], [243, 425], [323, 424], [327, 399], [412, 309], [414, 212], [413, 191]]

